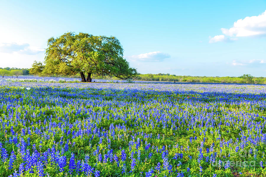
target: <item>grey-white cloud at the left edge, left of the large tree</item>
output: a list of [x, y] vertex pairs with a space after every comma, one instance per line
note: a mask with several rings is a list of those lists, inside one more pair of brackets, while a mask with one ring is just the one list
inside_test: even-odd
[[18, 44], [16, 42], [12, 43], [0, 43], [0, 53], [19, 53], [26, 55], [35, 55], [38, 53], [43, 53], [45, 49], [35, 46], [30, 46], [27, 43]]

